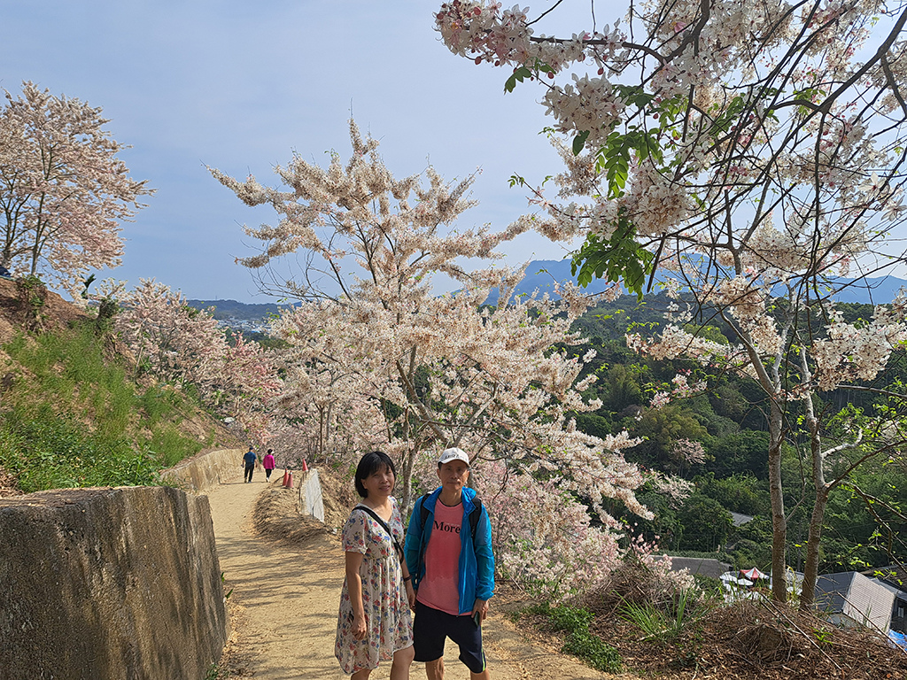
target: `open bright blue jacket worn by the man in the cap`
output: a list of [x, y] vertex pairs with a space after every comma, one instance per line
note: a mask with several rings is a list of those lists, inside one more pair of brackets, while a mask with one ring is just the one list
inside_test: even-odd
[[[413, 588], [419, 588], [419, 581], [425, 576], [425, 549], [432, 536], [434, 526], [434, 506], [438, 502], [441, 489], [435, 489], [427, 498], [420, 497], [415, 501], [413, 514], [409, 518], [409, 529], [406, 531], [406, 567], [413, 577]], [[475, 545], [473, 532], [470, 530], [469, 513], [473, 511], [475, 490], [463, 488], [463, 529], [460, 531], [460, 613], [473, 611], [476, 599], [490, 599], [494, 595], [494, 555], [492, 553], [492, 521], [488, 510], [482, 505], [482, 515], [475, 528]], [[422, 505], [428, 510], [425, 526], [422, 526]]]

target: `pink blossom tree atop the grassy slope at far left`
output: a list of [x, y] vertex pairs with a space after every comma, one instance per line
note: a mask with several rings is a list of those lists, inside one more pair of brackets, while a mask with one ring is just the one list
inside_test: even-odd
[[91, 269], [116, 267], [120, 223], [148, 195], [103, 129], [101, 109], [25, 82], [0, 109], [0, 266], [43, 273], [78, 299]]

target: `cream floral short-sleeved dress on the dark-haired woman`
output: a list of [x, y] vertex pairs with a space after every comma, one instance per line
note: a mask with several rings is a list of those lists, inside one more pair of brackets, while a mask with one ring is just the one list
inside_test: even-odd
[[[403, 519], [396, 501], [388, 526], [403, 545]], [[362, 605], [366, 610], [366, 636], [353, 637], [353, 605], [349, 600], [346, 578], [340, 593], [340, 613], [334, 656], [344, 673], [376, 668], [381, 661], [390, 661], [394, 653], [413, 644], [413, 617], [406, 599], [403, 569], [394, 543], [385, 529], [356, 506], [343, 528], [345, 552], [361, 552], [364, 557], [359, 568], [362, 577]]]

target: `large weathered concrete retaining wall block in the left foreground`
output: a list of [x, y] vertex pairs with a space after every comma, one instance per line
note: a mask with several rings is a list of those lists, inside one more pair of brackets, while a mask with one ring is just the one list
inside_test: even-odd
[[0, 499], [0, 680], [200, 680], [226, 637], [206, 496]]

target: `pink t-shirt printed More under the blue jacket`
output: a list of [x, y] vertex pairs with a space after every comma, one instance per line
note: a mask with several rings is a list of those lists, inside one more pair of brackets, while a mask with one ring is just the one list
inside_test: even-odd
[[460, 593], [460, 529], [463, 503], [449, 508], [439, 499], [434, 504], [434, 525], [425, 550], [425, 576], [416, 595], [422, 604], [458, 616]]

